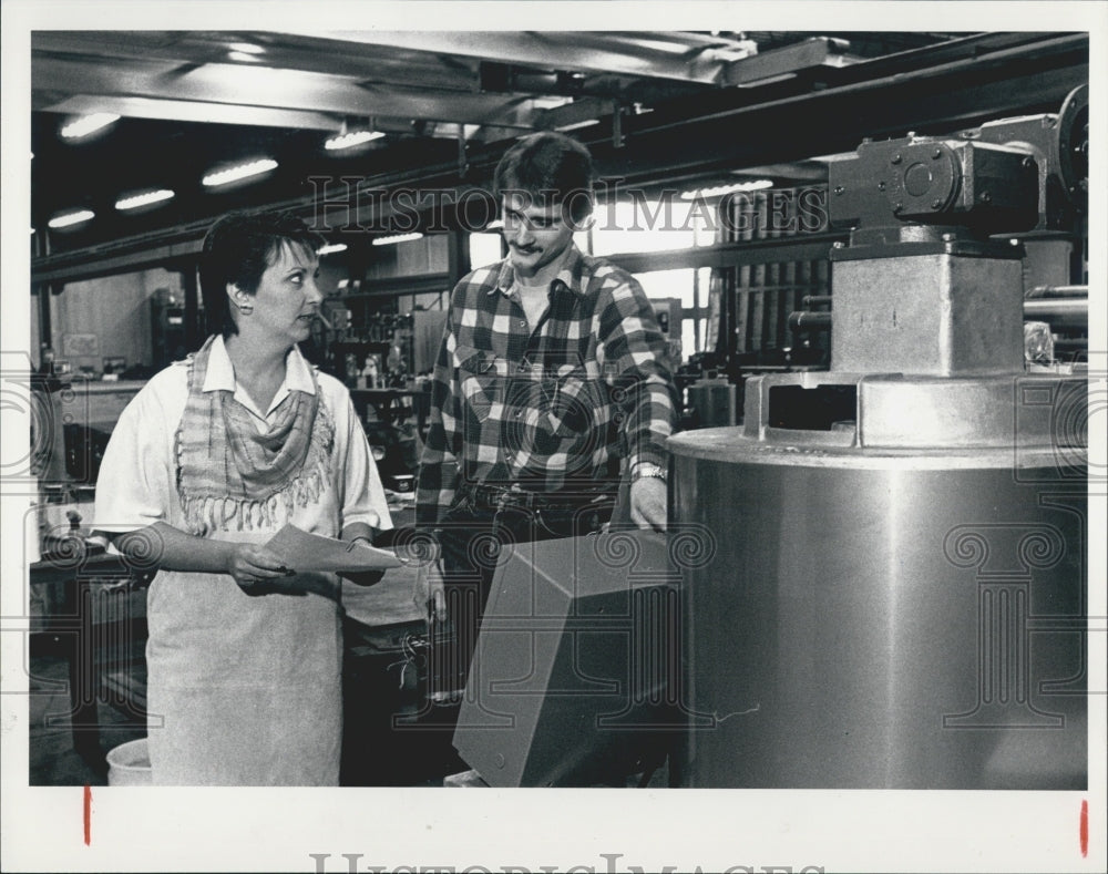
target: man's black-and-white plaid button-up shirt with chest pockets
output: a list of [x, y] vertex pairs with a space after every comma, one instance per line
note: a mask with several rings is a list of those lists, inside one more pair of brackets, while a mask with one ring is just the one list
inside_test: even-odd
[[417, 522], [442, 518], [459, 477], [572, 492], [611, 459], [665, 465], [676, 420], [666, 340], [635, 278], [575, 246], [527, 325], [511, 261], [454, 288], [434, 367]]

